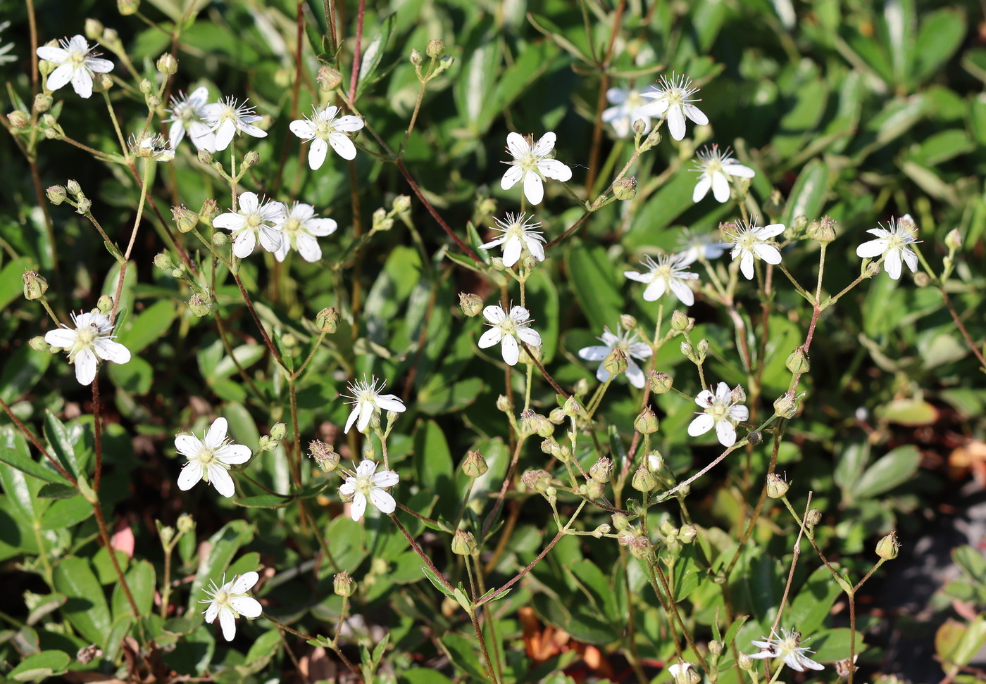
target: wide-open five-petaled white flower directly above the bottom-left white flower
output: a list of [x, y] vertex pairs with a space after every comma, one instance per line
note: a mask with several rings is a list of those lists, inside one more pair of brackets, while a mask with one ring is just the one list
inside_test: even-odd
[[236, 445], [233, 440], [227, 440], [228, 428], [225, 418], [217, 418], [212, 422], [204, 440], [199, 440], [194, 435], [175, 436], [175, 448], [188, 459], [178, 473], [178, 489], [184, 492], [194, 487], [199, 480], [205, 480], [224, 497], [234, 495], [236, 488], [229, 472], [230, 466], [246, 463], [250, 450], [249, 446]]

